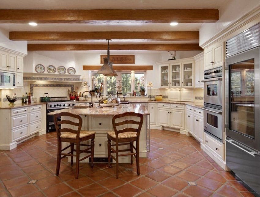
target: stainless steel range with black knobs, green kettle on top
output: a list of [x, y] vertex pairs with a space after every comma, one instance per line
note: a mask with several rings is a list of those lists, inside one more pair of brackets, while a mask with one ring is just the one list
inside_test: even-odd
[[67, 97], [51, 97], [50, 101], [44, 101], [44, 97], [40, 97], [41, 102], [46, 102], [46, 132], [53, 132], [55, 130], [53, 116], [49, 116], [49, 112], [72, 108], [76, 105], [76, 101], [67, 100]]

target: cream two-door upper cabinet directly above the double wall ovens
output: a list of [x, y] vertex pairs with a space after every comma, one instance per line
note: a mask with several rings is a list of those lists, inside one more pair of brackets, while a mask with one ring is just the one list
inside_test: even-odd
[[220, 67], [224, 64], [224, 43], [215, 43], [205, 49], [204, 53], [204, 70]]

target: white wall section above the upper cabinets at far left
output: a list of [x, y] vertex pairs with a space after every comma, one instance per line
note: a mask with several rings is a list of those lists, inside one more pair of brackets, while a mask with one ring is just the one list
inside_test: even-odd
[[12, 41], [9, 40], [9, 32], [0, 29], [0, 46], [27, 54], [27, 41]]

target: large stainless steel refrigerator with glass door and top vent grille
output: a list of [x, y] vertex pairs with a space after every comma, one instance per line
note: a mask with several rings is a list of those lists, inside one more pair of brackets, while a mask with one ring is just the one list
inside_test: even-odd
[[226, 164], [260, 194], [260, 23], [226, 42]]

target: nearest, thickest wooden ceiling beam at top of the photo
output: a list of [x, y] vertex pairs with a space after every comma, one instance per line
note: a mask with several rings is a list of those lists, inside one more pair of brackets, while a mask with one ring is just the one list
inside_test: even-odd
[[1, 9], [0, 23], [212, 23], [218, 9]]

